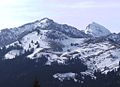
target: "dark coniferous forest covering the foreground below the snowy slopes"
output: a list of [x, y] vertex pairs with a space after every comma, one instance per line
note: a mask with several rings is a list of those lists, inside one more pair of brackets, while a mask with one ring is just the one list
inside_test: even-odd
[[[4, 48], [0, 50], [0, 53], [4, 54], [7, 50]], [[1, 87], [120, 87], [120, 67], [107, 74], [96, 71], [93, 78], [90, 75], [83, 76], [80, 73], [87, 69], [80, 59], [68, 60], [65, 65], [58, 64], [57, 62], [51, 65], [45, 65], [47, 61], [45, 56], [31, 60], [26, 57], [26, 54], [29, 53], [31, 51], [26, 51], [24, 54], [16, 56], [12, 60], [3, 60], [3, 56], [0, 54]], [[53, 78], [53, 75], [58, 72], [77, 73], [75, 77], [77, 81], [73, 79], [60, 81]], [[35, 81], [36, 78], [37, 81]]]

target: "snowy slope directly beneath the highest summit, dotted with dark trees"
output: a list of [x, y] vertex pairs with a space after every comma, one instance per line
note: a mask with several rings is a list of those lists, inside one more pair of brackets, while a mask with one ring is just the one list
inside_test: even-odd
[[[65, 34], [54, 32], [57, 38], [50, 38], [48, 34], [53, 34], [51, 30], [40, 30], [39, 34], [37, 31], [33, 31], [19, 41], [16, 41], [9, 46], [14, 46], [15, 44], [23, 47], [23, 52], [26, 50], [33, 49], [34, 52], [28, 55], [29, 58], [34, 59], [34, 56], [39, 54], [40, 51], [45, 52], [59, 52], [64, 53], [67, 51], [72, 51], [79, 48], [79, 46], [84, 42], [85, 38], [71, 38]], [[9, 52], [8, 52], [9, 54]], [[7, 54], [7, 55], [8, 55]], [[41, 53], [40, 53], [41, 54]], [[43, 53], [42, 53], [43, 54]], [[17, 55], [14, 53], [14, 56]], [[52, 57], [51, 57], [52, 58]], [[8, 57], [6, 58], [8, 59]], [[11, 58], [9, 58], [11, 59]]]

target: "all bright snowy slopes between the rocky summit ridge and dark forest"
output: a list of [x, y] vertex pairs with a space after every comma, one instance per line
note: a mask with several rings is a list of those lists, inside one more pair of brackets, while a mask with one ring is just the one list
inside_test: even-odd
[[[16, 43], [21, 45], [24, 50], [34, 49], [33, 53], [27, 56], [30, 59], [36, 59], [42, 55], [47, 56], [48, 62], [46, 62], [46, 65], [51, 65], [51, 63], [55, 61], [60, 64], [65, 64], [65, 61], [69, 58], [79, 58], [88, 67], [86, 73], [93, 73], [95, 70], [100, 70], [105, 73], [117, 68], [119, 65], [120, 49], [109, 41], [88, 44], [84, 43], [86, 38], [70, 38], [67, 36], [67, 38], [63, 40], [53, 40], [47, 37], [46, 33], [48, 32], [50, 32], [50, 30], [41, 30], [41, 34], [38, 35], [38, 33], [34, 31], [23, 37], [20, 40], [21, 44]], [[36, 42], [39, 44], [39, 47], [37, 47], [38, 44], [36, 44]], [[56, 44], [62, 44], [62, 51], [53, 50], [54, 48], [50, 43], [55, 42]], [[10, 55], [11, 52], [14, 52], [14, 50], [6, 54], [6, 59], [12, 59], [14, 55], [18, 55], [18, 53], [14, 52], [12, 53], [12, 57], [10, 56], [9, 58], [7, 55]]]

